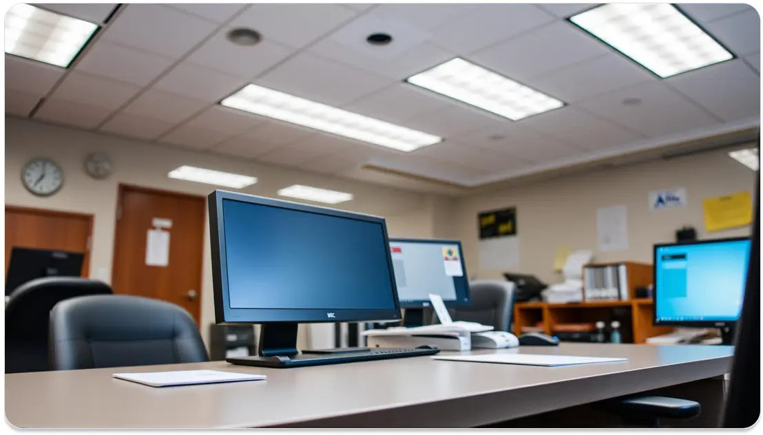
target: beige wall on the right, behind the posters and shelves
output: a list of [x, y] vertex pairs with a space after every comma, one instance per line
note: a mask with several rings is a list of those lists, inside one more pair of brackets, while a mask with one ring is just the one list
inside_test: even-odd
[[[600, 169], [496, 194], [463, 198], [453, 211], [452, 222], [456, 237], [464, 243], [469, 275], [501, 278], [503, 271], [479, 268], [476, 219], [480, 211], [504, 206], [517, 207], [520, 237], [517, 272], [532, 273], [547, 282], [561, 280], [552, 270], [555, 246], [596, 252], [596, 210], [600, 207], [627, 206], [629, 237], [629, 250], [596, 253], [596, 259], [601, 261], [630, 259], [652, 263], [652, 244], [672, 242], [675, 230], [684, 225], [695, 227], [700, 239], [749, 234], [749, 227], [711, 234], [704, 231], [703, 198], [755, 189], [755, 172], [730, 159], [727, 152]], [[680, 186], [687, 188], [687, 207], [650, 211], [650, 191]]]

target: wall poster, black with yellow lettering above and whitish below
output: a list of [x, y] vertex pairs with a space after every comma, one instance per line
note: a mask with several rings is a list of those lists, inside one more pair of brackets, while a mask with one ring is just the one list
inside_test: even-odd
[[517, 208], [478, 214], [479, 268], [508, 271], [520, 266], [520, 239], [517, 235]]

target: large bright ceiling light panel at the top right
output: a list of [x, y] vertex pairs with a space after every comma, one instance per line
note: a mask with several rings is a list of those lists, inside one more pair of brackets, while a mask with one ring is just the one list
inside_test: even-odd
[[610, 3], [570, 21], [663, 79], [734, 57], [669, 3]]

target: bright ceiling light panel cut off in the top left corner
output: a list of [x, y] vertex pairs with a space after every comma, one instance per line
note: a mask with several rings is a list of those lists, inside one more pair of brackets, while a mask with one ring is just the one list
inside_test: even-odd
[[5, 15], [5, 53], [67, 68], [98, 25], [19, 3]]

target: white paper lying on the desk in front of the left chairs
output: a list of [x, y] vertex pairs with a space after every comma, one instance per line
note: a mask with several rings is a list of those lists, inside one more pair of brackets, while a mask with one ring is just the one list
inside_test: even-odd
[[220, 372], [217, 370], [183, 370], [180, 372], [114, 373], [114, 378], [151, 387], [172, 385], [217, 384], [220, 382], [262, 381], [266, 375]]

